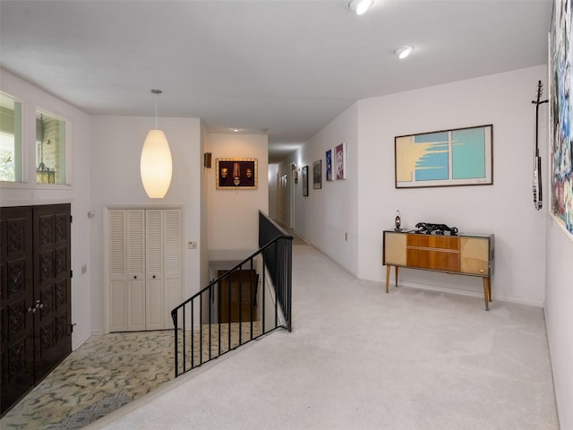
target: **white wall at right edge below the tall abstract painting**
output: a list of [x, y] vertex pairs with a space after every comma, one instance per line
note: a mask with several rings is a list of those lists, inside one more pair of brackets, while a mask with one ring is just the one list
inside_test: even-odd
[[566, 429], [573, 428], [573, 236], [553, 217], [546, 235], [545, 324], [560, 428]]

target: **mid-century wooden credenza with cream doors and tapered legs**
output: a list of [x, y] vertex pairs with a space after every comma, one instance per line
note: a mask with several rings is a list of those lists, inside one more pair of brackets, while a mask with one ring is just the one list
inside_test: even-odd
[[485, 310], [492, 301], [493, 235], [433, 236], [414, 232], [384, 230], [382, 263], [386, 266], [386, 292], [390, 268], [442, 271], [483, 278]]

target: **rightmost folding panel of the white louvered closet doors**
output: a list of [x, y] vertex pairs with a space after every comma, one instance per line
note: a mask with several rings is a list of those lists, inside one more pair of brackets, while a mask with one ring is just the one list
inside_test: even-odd
[[164, 326], [173, 328], [171, 310], [183, 301], [181, 285], [181, 211], [164, 211]]

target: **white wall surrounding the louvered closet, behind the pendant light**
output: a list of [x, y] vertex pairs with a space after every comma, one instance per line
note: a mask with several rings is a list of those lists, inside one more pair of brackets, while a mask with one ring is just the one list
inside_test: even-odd
[[[167, 136], [173, 158], [173, 178], [164, 199], [150, 199], [140, 176], [141, 147], [152, 117], [91, 117], [91, 209], [92, 222], [91, 304], [94, 332], [106, 329], [104, 320], [104, 217], [107, 207], [181, 207], [183, 229], [183, 297], [203, 286], [207, 262], [201, 262], [201, 246], [188, 249], [188, 241], [199, 242], [201, 231], [201, 121], [198, 118], [159, 118], [158, 128]], [[204, 215], [203, 217], [204, 218]]]

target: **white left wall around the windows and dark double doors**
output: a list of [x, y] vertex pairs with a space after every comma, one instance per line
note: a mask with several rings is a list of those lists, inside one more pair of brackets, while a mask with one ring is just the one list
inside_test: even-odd
[[[0, 187], [2, 206], [21, 206], [59, 202], [72, 203], [72, 348], [78, 348], [91, 334], [90, 311], [90, 117], [79, 109], [43, 90], [23, 82], [0, 70], [0, 90], [22, 102], [24, 133], [23, 157], [27, 165], [29, 184], [3, 184]], [[68, 166], [71, 185], [36, 185], [36, 107], [62, 116], [66, 127], [71, 129], [72, 164]], [[27, 154], [27, 155], [26, 155]], [[81, 266], [87, 264], [88, 272], [81, 274]]]

